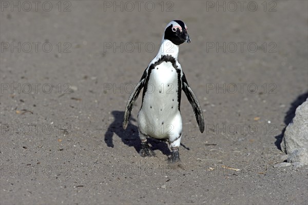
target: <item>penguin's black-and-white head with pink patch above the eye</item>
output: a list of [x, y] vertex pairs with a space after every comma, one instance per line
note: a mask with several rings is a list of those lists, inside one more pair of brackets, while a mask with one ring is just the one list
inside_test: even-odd
[[172, 20], [165, 29], [164, 39], [170, 40], [175, 45], [190, 43], [190, 38], [187, 33], [187, 26], [182, 20]]

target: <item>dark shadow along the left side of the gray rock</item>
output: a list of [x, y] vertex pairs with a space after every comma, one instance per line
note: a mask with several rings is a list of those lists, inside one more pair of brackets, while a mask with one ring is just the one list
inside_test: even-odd
[[[307, 97], [308, 97], [308, 91], [305, 92], [305, 93], [303, 93], [303, 94], [301, 94], [301, 95], [299, 95], [299, 96], [293, 101], [293, 103], [291, 104], [290, 109], [288, 109], [288, 111], [286, 112], [286, 115], [284, 116], [283, 122], [284, 122], [284, 124], [285, 124], [286, 126], [293, 120], [293, 118], [294, 118], [294, 116], [295, 116], [296, 108], [297, 108], [298, 106], [300, 106], [302, 103], [304, 103], [304, 101], [306, 101]], [[286, 128], [286, 127], [285, 127], [285, 128]], [[277, 147], [279, 150], [281, 150], [280, 144], [281, 144], [282, 139], [283, 139], [283, 135], [284, 135], [284, 132], [285, 132], [285, 128], [282, 130], [282, 132], [281, 132], [279, 135], [275, 136], [275, 138], [276, 138], [275, 145], [276, 145], [276, 147]]]

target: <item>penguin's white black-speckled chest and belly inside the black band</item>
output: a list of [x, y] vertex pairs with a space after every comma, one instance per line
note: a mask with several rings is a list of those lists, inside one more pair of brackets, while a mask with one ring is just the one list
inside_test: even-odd
[[182, 131], [182, 118], [178, 108], [181, 82], [178, 81], [178, 75], [170, 62], [163, 62], [151, 70], [138, 115], [139, 128], [151, 137], [169, 138], [171, 134]]

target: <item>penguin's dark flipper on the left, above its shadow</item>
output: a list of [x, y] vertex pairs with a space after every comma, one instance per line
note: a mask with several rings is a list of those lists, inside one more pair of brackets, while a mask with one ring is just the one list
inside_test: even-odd
[[138, 82], [137, 86], [133, 89], [133, 91], [131, 92], [131, 94], [128, 98], [126, 108], [125, 108], [125, 111], [124, 111], [124, 118], [123, 118], [123, 128], [124, 128], [124, 130], [126, 130], [126, 128], [127, 128], [127, 124], [128, 124], [128, 120], [130, 118], [130, 112], [132, 110], [133, 103], [138, 98], [138, 95], [139, 95], [141, 89], [144, 86], [145, 77], [146, 77], [146, 71], [144, 71], [140, 81]]

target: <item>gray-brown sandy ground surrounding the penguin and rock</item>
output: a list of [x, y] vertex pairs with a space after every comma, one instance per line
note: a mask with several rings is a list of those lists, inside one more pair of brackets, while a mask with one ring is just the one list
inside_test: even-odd
[[[1, 1], [1, 204], [308, 203], [308, 168], [274, 167], [308, 95], [307, 1], [29, 2]], [[206, 124], [182, 95], [180, 167], [165, 142], [139, 155], [141, 96], [122, 128], [173, 19]]]

